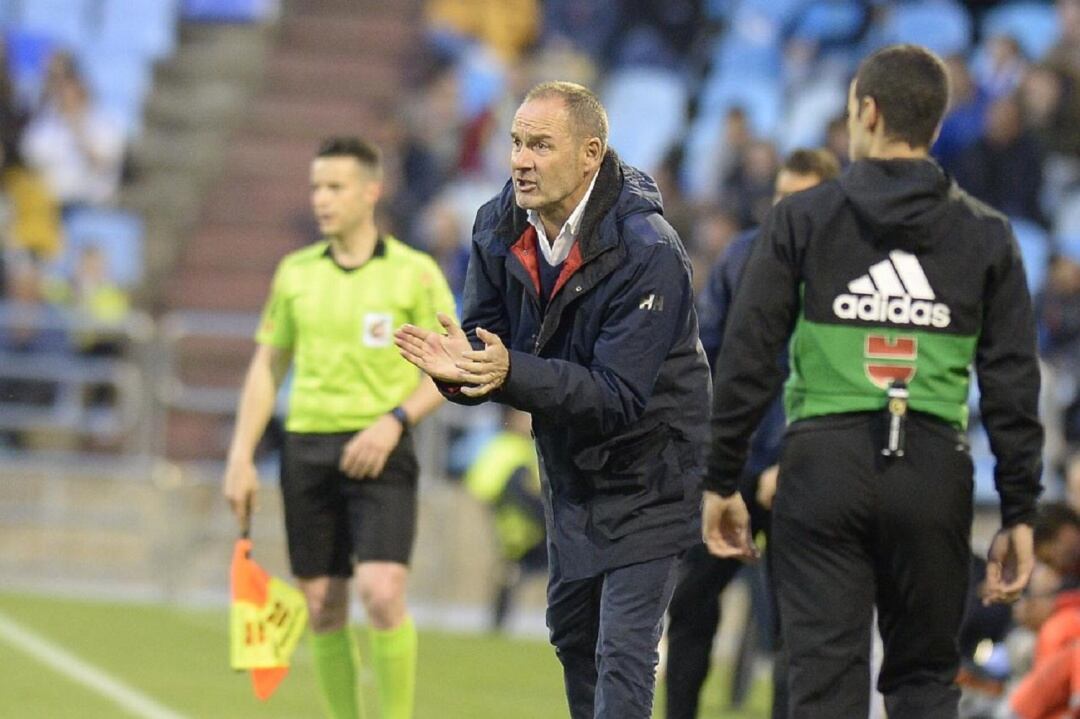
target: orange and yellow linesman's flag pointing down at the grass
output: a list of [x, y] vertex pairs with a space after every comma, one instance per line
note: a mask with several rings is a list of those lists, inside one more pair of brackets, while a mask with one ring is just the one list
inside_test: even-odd
[[252, 540], [232, 550], [229, 655], [233, 669], [251, 669], [255, 695], [267, 700], [288, 674], [288, 660], [308, 623], [303, 595], [252, 559]]

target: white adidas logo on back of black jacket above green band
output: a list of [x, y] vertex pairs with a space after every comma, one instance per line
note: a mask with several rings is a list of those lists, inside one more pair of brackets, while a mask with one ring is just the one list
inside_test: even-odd
[[948, 327], [948, 306], [935, 298], [919, 259], [894, 249], [889, 259], [848, 283], [848, 291], [833, 300], [833, 312], [841, 320]]

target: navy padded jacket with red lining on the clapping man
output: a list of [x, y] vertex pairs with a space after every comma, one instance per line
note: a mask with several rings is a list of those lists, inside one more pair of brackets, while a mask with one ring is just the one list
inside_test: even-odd
[[712, 390], [690, 262], [662, 212], [652, 179], [609, 151], [545, 311], [544, 260], [510, 182], [473, 226], [462, 327], [475, 344], [484, 327], [510, 349], [491, 398], [532, 415], [564, 580], [701, 541]]

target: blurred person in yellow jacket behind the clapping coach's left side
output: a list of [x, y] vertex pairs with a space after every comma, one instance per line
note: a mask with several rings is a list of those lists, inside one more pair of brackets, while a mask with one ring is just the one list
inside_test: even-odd
[[527, 412], [507, 408], [505, 431], [496, 435], [465, 473], [469, 492], [491, 507], [502, 559], [491, 608], [491, 628], [500, 630], [513, 595], [529, 574], [548, 569], [540, 467]]

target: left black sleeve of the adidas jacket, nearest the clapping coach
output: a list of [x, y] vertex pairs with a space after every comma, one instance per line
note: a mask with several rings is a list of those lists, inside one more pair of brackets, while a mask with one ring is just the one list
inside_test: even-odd
[[713, 392], [705, 489], [738, 489], [751, 435], [786, 378], [779, 357], [799, 309], [801, 256], [791, 207], [773, 207], [746, 263], [724, 331]]

